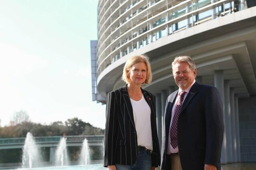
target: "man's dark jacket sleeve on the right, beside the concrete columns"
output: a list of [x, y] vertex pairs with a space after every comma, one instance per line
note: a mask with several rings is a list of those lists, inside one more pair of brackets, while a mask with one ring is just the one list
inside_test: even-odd
[[206, 120], [206, 153], [204, 164], [217, 166], [220, 161], [224, 134], [223, 104], [217, 88], [212, 87], [208, 90], [204, 107]]

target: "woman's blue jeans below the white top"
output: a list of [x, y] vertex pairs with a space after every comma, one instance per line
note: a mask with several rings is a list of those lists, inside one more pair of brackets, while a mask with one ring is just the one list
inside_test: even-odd
[[149, 150], [138, 150], [138, 157], [133, 165], [116, 164], [116, 170], [150, 170], [151, 153]]

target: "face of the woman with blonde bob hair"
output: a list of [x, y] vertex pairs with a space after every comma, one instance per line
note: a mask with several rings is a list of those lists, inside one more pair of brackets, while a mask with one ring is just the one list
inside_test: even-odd
[[134, 64], [130, 68], [130, 84], [143, 84], [147, 77], [147, 65], [144, 62]]

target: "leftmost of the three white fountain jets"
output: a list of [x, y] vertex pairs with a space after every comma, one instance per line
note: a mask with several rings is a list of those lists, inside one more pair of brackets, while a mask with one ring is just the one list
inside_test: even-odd
[[32, 168], [32, 166], [42, 162], [39, 148], [30, 132], [27, 133], [22, 152], [22, 168]]

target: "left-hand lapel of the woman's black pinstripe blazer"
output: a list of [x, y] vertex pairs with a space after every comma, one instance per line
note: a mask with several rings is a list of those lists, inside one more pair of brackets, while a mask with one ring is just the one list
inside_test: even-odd
[[[128, 94], [128, 90], [127, 90], [127, 87], [126, 85], [124, 87], [122, 87], [122, 97], [124, 99], [124, 109], [122, 109], [123, 111], [128, 111], [128, 115], [132, 121], [132, 125], [134, 126], [134, 129], [135, 129], [135, 123], [134, 123], [134, 117], [133, 117], [133, 110], [132, 110], [132, 103], [131, 103], [131, 100], [130, 100], [130, 97], [129, 97], [129, 94]], [[122, 107], [122, 106], [121, 106]]]

